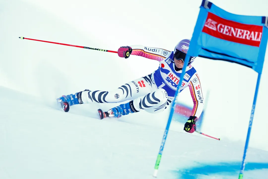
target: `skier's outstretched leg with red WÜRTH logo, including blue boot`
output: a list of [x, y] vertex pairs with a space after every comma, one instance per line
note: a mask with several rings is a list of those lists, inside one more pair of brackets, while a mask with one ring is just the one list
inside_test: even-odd
[[151, 81], [151, 75], [146, 75], [109, 92], [84, 90], [83, 92], [62, 96], [59, 100], [68, 101], [70, 106], [87, 103], [120, 103], [133, 100], [156, 89], [157, 86]]

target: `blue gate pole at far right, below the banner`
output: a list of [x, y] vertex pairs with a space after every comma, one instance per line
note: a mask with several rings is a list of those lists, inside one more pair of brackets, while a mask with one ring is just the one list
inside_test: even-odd
[[243, 172], [245, 169], [245, 158], [246, 158], [246, 153], [247, 153], [247, 149], [248, 149], [248, 143], [250, 140], [251, 126], [252, 126], [252, 122], [253, 122], [253, 116], [254, 116], [254, 111], [255, 111], [255, 106], [256, 106], [256, 101], [257, 101], [257, 96], [258, 96], [258, 90], [259, 90], [259, 85], [260, 85], [260, 76], [261, 76], [261, 73], [258, 74], [258, 80], [257, 80], [257, 84], [256, 84], [256, 89], [255, 89], [255, 96], [254, 96], [253, 105], [252, 105], [252, 109], [251, 109], [250, 123], [248, 125], [248, 134], [247, 134], [247, 139], [246, 139], [246, 143], [245, 143], [244, 155], [243, 155], [242, 165], [241, 165], [241, 169], [240, 169], [240, 173], [239, 173], [239, 179], [243, 178]]

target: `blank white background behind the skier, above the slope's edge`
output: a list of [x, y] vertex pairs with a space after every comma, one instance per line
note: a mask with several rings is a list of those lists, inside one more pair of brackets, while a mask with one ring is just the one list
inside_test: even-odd
[[[150, 74], [158, 68], [158, 61], [136, 56], [123, 59], [113, 53], [21, 41], [18, 36], [114, 51], [125, 45], [173, 50], [178, 41], [191, 38], [202, 1], [24, 0], [20, 1], [21, 6], [17, 2], [0, 1], [0, 85], [37, 96], [54, 94], [58, 97], [85, 88], [117, 88]], [[235, 14], [268, 16], [265, 0], [211, 2]], [[42, 18], [44, 13], [49, 14], [50, 19]], [[70, 34], [67, 26], [77, 34]], [[68, 63], [64, 63], [65, 59]], [[70, 60], [73, 63], [70, 64]], [[64, 72], [63, 84], [51, 82], [54, 76], [42, 71], [45, 65]], [[204, 95], [210, 92], [202, 132], [244, 141], [256, 72], [241, 65], [202, 58], [197, 58], [193, 66], [199, 73]], [[266, 150], [268, 140], [263, 136], [267, 136], [268, 125], [265, 113], [267, 69], [266, 53], [250, 141], [251, 146]], [[62, 85], [66, 88], [62, 89]], [[44, 90], [48, 87], [55, 92]], [[181, 93], [180, 99], [192, 106], [188, 89]]]

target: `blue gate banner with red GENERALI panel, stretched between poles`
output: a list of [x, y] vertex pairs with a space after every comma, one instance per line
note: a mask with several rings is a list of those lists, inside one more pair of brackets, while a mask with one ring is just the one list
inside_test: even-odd
[[268, 17], [242, 16], [202, 1], [188, 54], [225, 60], [262, 72]]

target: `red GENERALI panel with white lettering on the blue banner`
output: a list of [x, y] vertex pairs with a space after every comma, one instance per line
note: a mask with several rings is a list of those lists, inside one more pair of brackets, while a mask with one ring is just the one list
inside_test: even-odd
[[223, 40], [260, 46], [263, 26], [242, 24], [208, 13], [202, 32]]

